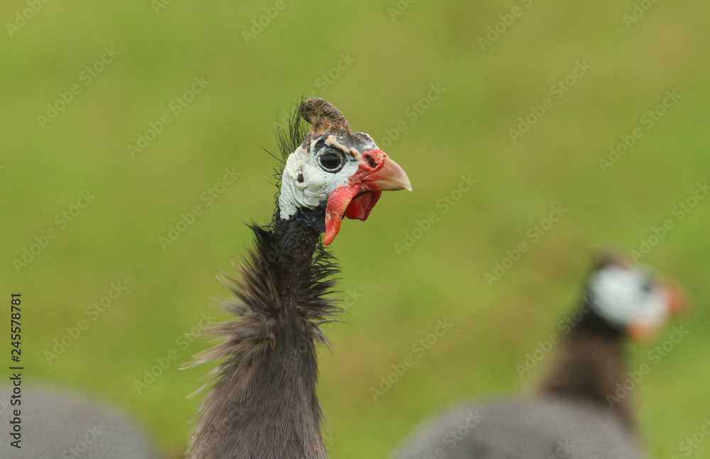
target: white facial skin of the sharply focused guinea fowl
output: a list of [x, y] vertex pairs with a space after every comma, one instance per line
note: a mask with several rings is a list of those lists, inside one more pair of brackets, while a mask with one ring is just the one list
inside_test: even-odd
[[[278, 198], [281, 219], [293, 216], [298, 208], [315, 209], [358, 170], [362, 155], [355, 148], [340, 144], [335, 136], [328, 136], [324, 145], [320, 143], [316, 148], [318, 140], [312, 140], [308, 150], [297, 148], [286, 160]], [[377, 148], [374, 143], [373, 148]], [[337, 167], [329, 169], [334, 162]]]

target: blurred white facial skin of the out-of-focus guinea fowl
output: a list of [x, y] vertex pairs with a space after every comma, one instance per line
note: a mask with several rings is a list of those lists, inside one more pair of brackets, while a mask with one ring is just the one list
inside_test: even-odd
[[603, 268], [592, 277], [589, 287], [596, 311], [620, 328], [629, 324], [655, 328], [669, 314], [662, 288], [638, 268]]

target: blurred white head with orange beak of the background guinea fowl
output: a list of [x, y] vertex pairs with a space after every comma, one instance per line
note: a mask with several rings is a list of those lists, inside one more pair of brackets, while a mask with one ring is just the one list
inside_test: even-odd
[[596, 314], [634, 341], [648, 341], [685, 305], [684, 295], [674, 284], [614, 255], [599, 258], [588, 288]]

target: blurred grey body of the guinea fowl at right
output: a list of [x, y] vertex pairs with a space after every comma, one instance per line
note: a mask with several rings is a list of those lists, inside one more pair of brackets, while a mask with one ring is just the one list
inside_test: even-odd
[[640, 459], [608, 410], [565, 397], [458, 404], [425, 421], [396, 459]]

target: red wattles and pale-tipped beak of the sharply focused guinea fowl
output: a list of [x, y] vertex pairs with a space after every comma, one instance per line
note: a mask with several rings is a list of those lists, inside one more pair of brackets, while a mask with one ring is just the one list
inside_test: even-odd
[[349, 183], [337, 187], [328, 198], [325, 211], [323, 243], [333, 242], [345, 215], [349, 219], [366, 220], [382, 192], [408, 189], [412, 191], [406, 172], [381, 150], [362, 154], [361, 165]]

